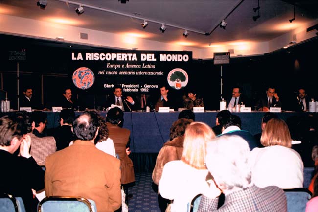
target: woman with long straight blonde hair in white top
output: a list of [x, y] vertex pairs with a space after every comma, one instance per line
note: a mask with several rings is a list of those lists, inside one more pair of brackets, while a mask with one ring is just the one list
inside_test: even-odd
[[213, 130], [202, 122], [192, 122], [185, 130], [180, 161], [170, 161], [163, 167], [159, 181], [162, 197], [174, 200], [171, 212], [186, 212], [187, 203], [196, 195], [218, 190], [206, 182], [208, 170], [204, 164], [206, 145], [215, 138]]

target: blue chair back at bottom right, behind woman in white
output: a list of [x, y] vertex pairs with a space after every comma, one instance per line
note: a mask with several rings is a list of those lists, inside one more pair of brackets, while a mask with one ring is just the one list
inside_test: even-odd
[[288, 212], [305, 212], [306, 204], [311, 197], [307, 188], [283, 189], [287, 198]]

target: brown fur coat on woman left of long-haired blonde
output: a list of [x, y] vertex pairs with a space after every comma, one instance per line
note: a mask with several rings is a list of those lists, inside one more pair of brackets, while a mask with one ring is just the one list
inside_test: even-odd
[[172, 141], [166, 142], [160, 149], [157, 156], [156, 165], [152, 172], [152, 180], [155, 184], [159, 184], [163, 166], [169, 161], [177, 161], [181, 159], [183, 151], [184, 137], [177, 137]]

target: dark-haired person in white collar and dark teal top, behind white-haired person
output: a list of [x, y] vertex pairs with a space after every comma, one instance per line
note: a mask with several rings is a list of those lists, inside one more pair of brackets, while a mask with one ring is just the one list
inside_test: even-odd
[[222, 134], [223, 135], [238, 135], [242, 137], [245, 141], [249, 143], [250, 150], [255, 147], [258, 147], [257, 141], [255, 140], [254, 136], [250, 134], [250, 132], [241, 130], [241, 119], [231, 114], [229, 119], [224, 119], [222, 124]]

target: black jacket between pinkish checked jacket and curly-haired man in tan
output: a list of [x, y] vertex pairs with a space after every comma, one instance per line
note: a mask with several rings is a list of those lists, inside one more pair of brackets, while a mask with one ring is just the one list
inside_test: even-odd
[[63, 125], [53, 129], [48, 129], [47, 135], [54, 137], [56, 141], [56, 151], [68, 147], [70, 141], [74, 140], [72, 127], [69, 125]]

